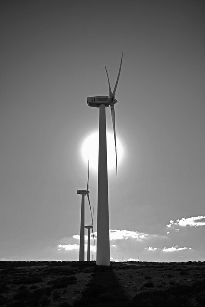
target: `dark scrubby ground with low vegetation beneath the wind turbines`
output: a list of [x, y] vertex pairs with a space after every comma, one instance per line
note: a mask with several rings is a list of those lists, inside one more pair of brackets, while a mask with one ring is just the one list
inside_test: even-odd
[[204, 307], [205, 262], [0, 261], [0, 307]]

